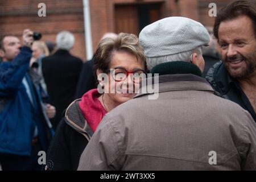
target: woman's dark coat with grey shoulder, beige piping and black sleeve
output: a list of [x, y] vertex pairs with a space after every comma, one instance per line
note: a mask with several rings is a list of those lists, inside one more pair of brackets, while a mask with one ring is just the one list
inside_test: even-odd
[[93, 134], [82, 116], [79, 101], [73, 101], [68, 106], [65, 117], [57, 127], [47, 152], [46, 170], [74, 171], [79, 166], [80, 155]]

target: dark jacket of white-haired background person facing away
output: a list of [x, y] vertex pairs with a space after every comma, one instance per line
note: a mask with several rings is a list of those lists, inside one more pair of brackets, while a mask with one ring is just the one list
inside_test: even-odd
[[49, 103], [56, 107], [53, 128], [56, 128], [63, 111], [75, 98], [81, 68], [82, 60], [65, 50], [58, 50], [42, 60], [42, 71], [49, 94]]

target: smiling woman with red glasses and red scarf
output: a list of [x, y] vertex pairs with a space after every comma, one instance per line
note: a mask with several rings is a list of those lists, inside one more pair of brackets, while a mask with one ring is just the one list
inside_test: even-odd
[[101, 40], [94, 56], [98, 89], [85, 93], [65, 110], [47, 152], [45, 169], [76, 170], [101, 119], [136, 95], [146, 69], [146, 57], [137, 36], [121, 33], [117, 38]]

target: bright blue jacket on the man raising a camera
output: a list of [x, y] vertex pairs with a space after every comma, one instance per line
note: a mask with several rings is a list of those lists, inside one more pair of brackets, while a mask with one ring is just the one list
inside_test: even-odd
[[[23, 47], [13, 61], [0, 63], [0, 153], [30, 155], [35, 127], [42, 150], [47, 150], [51, 139], [40, 95], [27, 73], [31, 52]], [[22, 83], [24, 77], [34, 105]]]

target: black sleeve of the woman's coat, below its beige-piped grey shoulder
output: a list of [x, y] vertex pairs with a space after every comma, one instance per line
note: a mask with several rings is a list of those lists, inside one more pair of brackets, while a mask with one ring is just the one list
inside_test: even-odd
[[69, 126], [64, 118], [56, 129], [47, 152], [47, 171], [76, 171], [88, 140]]

